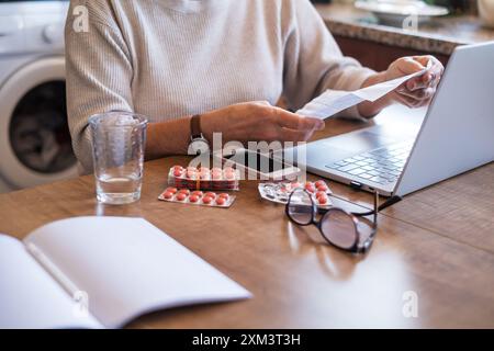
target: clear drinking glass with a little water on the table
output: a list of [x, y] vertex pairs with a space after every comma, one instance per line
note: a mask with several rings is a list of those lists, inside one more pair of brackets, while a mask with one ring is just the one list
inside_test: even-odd
[[141, 199], [147, 121], [131, 112], [109, 112], [89, 120], [100, 203], [123, 205]]

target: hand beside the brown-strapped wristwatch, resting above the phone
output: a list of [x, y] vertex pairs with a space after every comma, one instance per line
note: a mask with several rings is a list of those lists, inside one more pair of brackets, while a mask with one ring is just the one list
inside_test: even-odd
[[247, 102], [205, 113], [201, 116], [205, 137], [222, 133], [224, 140], [306, 141], [324, 121], [300, 116], [268, 102]]

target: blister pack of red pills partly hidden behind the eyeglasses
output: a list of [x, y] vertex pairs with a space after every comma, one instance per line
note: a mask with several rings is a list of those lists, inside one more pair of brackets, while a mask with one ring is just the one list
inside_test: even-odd
[[296, 189], [305, 189], [312, 194], [314, 203], [319, 207], [329, 207], [332, 201], [329, 196], [333, 194], [332, 190], [324, 180], [306, 183], [260, 183], [259, 194], [263, 200], [287, 204], [290, 194]]

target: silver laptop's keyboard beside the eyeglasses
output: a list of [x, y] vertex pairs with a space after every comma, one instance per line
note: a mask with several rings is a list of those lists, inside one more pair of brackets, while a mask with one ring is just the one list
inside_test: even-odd
[[386, 145], [326, 167], [363, 181], [388, 185], [396, 182], [402, 174], [412, 147], [412, 143]]

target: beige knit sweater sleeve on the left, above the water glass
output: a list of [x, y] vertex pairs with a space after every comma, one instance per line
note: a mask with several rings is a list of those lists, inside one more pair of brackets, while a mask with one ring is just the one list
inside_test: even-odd
[[[130, 54], [102, 3], [71, 1], [65, 31], [68, 123], [81, 173], [93, 171], [90, 116], [112, 110], [133, 111]], [[88, 11], [87, 31], [74, 25], [78, 5]]]

